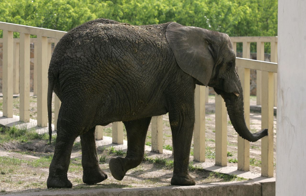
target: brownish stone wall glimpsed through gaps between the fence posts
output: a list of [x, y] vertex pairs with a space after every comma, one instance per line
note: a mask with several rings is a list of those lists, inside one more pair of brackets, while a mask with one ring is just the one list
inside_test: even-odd
[[[53, 48], [53, 45], [52, 45]], [[242, 52], [237, 52], [237, 57], [242, 57]], [[30, 54], [30, 91], [33, 92], [34, 76], [34, 44], [31, 43]], [[256, 53], [251, 53], [251, 59], [256, 60]], [[270, 54], [265, 54], [265, 61], [270, 62]], [[209, 94], [215, 94], [213, 88], [209, 88]], [[2, 92], [2, 43], [0, 43], [0, 92]], [[256, 95], [256, 70], [250, 70], [250, 95]]]

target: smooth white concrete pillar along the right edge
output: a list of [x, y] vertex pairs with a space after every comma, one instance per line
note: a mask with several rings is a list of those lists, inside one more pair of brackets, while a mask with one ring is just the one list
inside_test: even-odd
[[306, 1], [278, 1], [276, 195], [306, 193]]

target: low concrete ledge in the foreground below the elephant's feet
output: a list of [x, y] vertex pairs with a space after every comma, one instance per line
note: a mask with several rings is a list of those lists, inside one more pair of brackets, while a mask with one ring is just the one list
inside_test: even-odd
[[275, 195], [275, 182], [270, 183], [216, 183], [200, 184], [196, 186], [166, 186], [154, 188], [117, 188], [117, 189], [84, 189], [84, 190], [46, 190], [41, 192], [23, 193], [22, 195], [82, 195], [82, 196], [136, 196], [136, 195]]

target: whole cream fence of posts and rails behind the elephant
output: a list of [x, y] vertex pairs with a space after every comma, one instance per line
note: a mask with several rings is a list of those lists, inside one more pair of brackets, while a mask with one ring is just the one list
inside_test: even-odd
[[[34, 95], [37, 95], [37, 125], [47, 126], [47, 69], [51, 59], [51, 43], [66, 33], [44, 28], [0, 22], [3, 30], [3, 116], [13, 117], [13, 93], [20, 93], [20, 120], [29, 122], [30, 95], [30, 43], [34, 43]], [[13, 32], [20, 38], [13, 39]], [[30, 38], [36, 35], [37, 38]], [[250, 90], [250, 69], [257, 70], [257, 104], [262, 105], [262, 127], [268, 128], [269, 135], [262, 138], [263, 176], [273, 176], [273, 105], [275, 99], [274, 73], [277, 73], [277, 37], [231, 37], [236, 52], [237, 42], [243, 43], [243, 58], [236, 58], [236, 66], [244, 92]], [[257, 59], [264, 60], [264, 42], [271, 42], [271, 61], [249, 60], [250, 43], [257, 43]], [[19, 62], [19, 66], [18, 66]], [[261, 90], [259, 84], [261, 85]], [[19, 88], [18, 88], [19, 86]], [[261, 93], [260, 93], [261, 92]], [[258, 97], [261, 97], [258, 99]], [[244, 93], [244, 111], [247, 126], [250, 120], [250, 95]], [[261, 103], [259, 102], [261, 101]], [[205, 161], [205, 102], [208, 102], [208, 88], [196, 85], [195, 89], [195, 127], [194, 160]], [[60, 100], [54, 98], [54, 122], [57, 122]], [[222, 97], [216, 95], [215, 121], [215, 164], [227, 165], [227, 112]], [[152, 151], [162, 153], [162, 116], [151, 120]], [[56, 129], [56, 123], [55, 123]], [[123, 144], [123, 123], [113, 123], [113, 143]], [[96, 139], [103, 139], [103, 127], [96, 126]], [[249, 170], [249, 142], [238, 136], [238, 169]]]

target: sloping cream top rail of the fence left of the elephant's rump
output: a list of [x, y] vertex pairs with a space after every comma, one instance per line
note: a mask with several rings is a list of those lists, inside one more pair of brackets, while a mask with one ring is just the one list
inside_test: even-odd
[[16, 25], [7, 22], [0, 22], [0, 29], [12, 32], [20, 32], [30, 35], [43, 37], [61, 38], [66, 34], [65, 31], [51, 30], [47, 28], [31, 27], [26, 25]]

